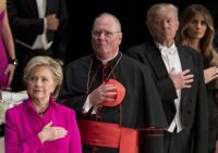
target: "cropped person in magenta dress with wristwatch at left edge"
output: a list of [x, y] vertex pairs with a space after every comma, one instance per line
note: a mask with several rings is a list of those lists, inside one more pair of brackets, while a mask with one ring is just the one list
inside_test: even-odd
[[0, 1], [0, 89], [2, 89], [11, 86], [17, 66], [5, 0]]

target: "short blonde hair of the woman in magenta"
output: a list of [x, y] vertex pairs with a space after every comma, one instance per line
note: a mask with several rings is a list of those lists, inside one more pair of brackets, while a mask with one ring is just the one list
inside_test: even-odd
[[35, 56], [26, 65], [24, 69], [24, 81], [26, 82], [27, 78], [29, 77], [32, 71], [37, 67], [37, 66], [47, 66], [50, 68], [52, 75], [53, 75], [53, 80], [57, 84], [57, 87], [53, 91], [53, 98], [56, 99], [59, 94], [60, 91], [60, 86], [63, 80], [63, 72], [62, 67], [58, 62], [56, 62], [53, 59], [49, 56]]

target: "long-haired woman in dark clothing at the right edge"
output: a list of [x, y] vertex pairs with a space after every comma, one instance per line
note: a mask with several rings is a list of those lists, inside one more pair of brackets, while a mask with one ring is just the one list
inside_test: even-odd
[[204, 61], [209, 117], [209, 153], [215, 153], [218, 138], [218, 53], [213, 44], [214, 37], [214, 21], [208, 9], [202, 4], [189, 5], [180, 16], [177, 41], [198, 51]]

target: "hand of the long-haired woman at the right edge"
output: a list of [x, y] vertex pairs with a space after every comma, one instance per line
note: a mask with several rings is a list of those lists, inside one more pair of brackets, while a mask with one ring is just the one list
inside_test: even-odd
[[216, 66], [211, 66], [207, 69], [204, 69], [205, 84], [210, 82], [217, 77], [218, 77], [218, 68]]

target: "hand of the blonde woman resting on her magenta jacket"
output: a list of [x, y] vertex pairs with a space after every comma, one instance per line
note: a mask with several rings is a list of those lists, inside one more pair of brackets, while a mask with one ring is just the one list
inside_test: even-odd
[[51, 127], [52, 120], [44, 126], [43, 130], [38, 133], [38, 137], [44, 143], [45, 141], [52, 141], [60, 138], [64, 138], [68, 135], [68, 130], [62, 127]]

